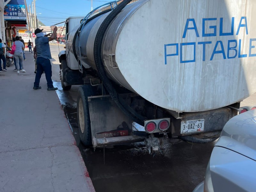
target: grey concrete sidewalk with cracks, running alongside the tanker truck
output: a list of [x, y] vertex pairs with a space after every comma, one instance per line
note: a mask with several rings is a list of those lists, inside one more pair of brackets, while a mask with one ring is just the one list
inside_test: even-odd
[[57, 94], [44, 74], [33, 90], [35, 63], [25, 52], [26, 73], [14, 65], [0, 73], [0, 191], [94, 191]]

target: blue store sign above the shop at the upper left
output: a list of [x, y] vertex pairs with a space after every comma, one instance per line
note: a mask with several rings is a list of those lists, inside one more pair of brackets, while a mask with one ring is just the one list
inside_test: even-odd
[[[6, 1], [4, 0], [4, 2]], [[4, 20], [26, 20], [24, 0], [11, 0], [4, 6]]]

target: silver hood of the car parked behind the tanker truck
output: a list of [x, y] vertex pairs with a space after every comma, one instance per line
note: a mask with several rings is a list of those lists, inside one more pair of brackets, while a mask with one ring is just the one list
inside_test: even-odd
[[215, 146], [228, 148], [256, 161], [256, 110], [231, 118]]

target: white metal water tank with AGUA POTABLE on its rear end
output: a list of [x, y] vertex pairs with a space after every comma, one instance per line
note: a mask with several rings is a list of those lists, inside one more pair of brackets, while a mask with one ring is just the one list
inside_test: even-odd
[[[255, 0], [139, 0], [105, 33], [105, 70], [118, 84], [173, 111], [239, 102], [256, 92], [255, 10]], [[84, 65], [96, 68], [94, 39], [108, 14], [81, 31]]]

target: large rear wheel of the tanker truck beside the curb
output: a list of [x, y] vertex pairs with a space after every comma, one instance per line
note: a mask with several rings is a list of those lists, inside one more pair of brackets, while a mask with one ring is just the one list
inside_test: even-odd
[[95, 96], [96, 92], [91, 85], [82, 85], [77, 94], [77, 120], [79, 137], [85, 146], [92, 145], [91, 120], [88, 97]]

